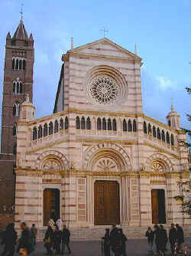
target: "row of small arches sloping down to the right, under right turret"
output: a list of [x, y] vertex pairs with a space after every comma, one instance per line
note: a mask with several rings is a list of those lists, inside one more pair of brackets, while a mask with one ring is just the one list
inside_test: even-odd
[[174, 136], [173, 133], [171, 133], [171, 135], [169, 134], [169, 132], [164, 132], [164, 130], [161, 131], [160, 133], [160, 128], [155, 126], [151, 126], [151, 123], [149, 123], [147, 125], [147, 123], [144, 121], [144, 133], [145, 134], [149, 134], [151, 136], [154, 136], [157, 139], [162, 140], [163, 142], [167, 142], [168, 144], [171, 143], [172, 146], [174, 146]]

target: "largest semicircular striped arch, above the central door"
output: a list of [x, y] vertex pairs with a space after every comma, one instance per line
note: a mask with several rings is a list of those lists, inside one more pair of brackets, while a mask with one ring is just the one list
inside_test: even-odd
[[115, 169], [116, 171], [127, 171], [131, 168], [131, 160], [125, 149], [112, 143], [100, 143], [90, 146], [84, 153], [83, 169], [97, 170]]

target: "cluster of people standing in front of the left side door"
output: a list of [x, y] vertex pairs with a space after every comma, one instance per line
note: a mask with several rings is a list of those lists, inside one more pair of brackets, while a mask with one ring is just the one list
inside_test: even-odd
[[53, 219], [48, 222], [44, 236], [44, 247], [47, 249], [47, 255], [53, 254], [52, 249], [55, 250], [55, 254], [64, 254], [66, 248], [68, 253], [71, 254], [70, 231], [66, 228], [66, 225], [62, 224], [61, 220], [57, 220], [56, 224]]

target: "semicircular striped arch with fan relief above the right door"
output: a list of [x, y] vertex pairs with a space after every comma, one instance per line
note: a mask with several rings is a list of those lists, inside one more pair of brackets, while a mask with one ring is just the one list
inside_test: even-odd
[[173, 172], [173, 164], [167, 156], [156, 153], [147, 158], [146, 169], [156, 172]]

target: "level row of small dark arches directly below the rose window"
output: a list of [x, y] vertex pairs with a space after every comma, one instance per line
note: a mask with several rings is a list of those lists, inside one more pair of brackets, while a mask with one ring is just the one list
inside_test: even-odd
[[[81, 117], [81, 119], [77, 116], [76, 117], [76, 129], [83, 129], [83, 130], [91, 130], [92, 125], [91, 125], [91, 119], [90, 117]], [[102, 119], [98, 117], [97, 122], [96, 122], [96, 129], [97, 130], [113, 130], [117, 131], [117, 122], [115, 118], [111, 120], [111, 118], [108, 118], [107, 120], [105, 117]], [[133, 120], [131, 123], [131, 120], [127, 121], [124, 119], [123, 120], [123, 131], [128, 131], [128, 132], [136, 132], [137, 131], [137, 123], [136, 120]]]

